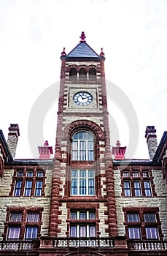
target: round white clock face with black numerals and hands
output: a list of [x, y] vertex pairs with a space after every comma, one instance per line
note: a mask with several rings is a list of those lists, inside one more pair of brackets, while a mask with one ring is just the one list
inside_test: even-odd
[[73, 100], [77, 105], [87, 106], [93, 102], [93, 96], [86, 91], [79, 91], [74, 94]]

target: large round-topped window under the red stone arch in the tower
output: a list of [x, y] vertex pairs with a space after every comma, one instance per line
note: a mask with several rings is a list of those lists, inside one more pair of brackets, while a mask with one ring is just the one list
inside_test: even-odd
[[72, 138], [72, 161], [93, 161], [94, 141], [90, 132], [77, 132]]

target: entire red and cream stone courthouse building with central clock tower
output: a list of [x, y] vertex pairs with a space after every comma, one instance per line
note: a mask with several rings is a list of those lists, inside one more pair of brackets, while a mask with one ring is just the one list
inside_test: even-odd
[[167, 132], [146, 128], [147, 160], [111, 145], [104, 61], [84, 32], [63, 49], [54, 154], [15, 159], [0, 131], [0, 255], [167, 255]]

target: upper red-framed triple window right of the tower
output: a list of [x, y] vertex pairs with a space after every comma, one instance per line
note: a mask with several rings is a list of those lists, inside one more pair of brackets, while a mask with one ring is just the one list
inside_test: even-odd
[[151, 170], [121, 170], [124, 197], [156, 196]]

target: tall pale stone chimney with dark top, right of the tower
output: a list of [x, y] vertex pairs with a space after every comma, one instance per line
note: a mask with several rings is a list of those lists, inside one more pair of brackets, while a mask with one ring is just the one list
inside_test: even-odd
[[146, 127], [146, 132], [145, 132], [145, 138], [147, 138], [147, 146], [149, 150], [149, 159], [152, 160], [155, 151], [157, 150], [158, 144], [157, 144], [157, 135], [155, 127]]

